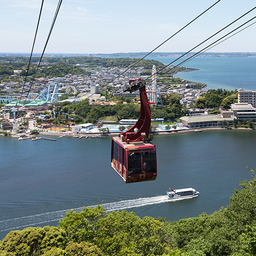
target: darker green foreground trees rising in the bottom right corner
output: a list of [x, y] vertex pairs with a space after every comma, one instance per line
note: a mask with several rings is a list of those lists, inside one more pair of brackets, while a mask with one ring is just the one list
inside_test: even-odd
[[175, 246], [189, 255], [256, 255], [256, 179], [240, 185], [227, 208], [168, 223]]

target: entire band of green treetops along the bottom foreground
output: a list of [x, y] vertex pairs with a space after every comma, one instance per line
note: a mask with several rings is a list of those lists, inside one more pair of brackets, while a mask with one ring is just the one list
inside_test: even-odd
[[[249, 168], [248, 168], [249, 169]], [[139, 218], [102, 206], [70, 210], [57, 227], [13, 230], [0, 241], [0, 255], [253, 256], [256, 253], [256, 178], [241, 181], [226, 208], [169, 222]]]

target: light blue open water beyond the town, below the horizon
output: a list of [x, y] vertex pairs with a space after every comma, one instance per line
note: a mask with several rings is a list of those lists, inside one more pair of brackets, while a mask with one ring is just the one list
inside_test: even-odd
[[[155, 59], [164, 63], [164, 65], [168, 65], [176, 58], [147, 57], [147, 59]], [[173, 65], [178, 65], [185, 59], [181, 58]], [[222, 88], [230, 91], [243, 88], [244, 90], [256, 90], [256, 57], [197, 57], [181, 66], [200, 70], [179, 73], [175, 77], [187, 81], [206, 83], [207, 89]]]

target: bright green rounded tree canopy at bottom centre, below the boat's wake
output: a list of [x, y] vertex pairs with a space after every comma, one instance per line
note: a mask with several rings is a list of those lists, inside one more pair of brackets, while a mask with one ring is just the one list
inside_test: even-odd
[[93, 242], [104, 255], [161, 255], [169, 251], [164, 224], [151, 217], [140, 219], [126, 210], [105, 212], [102, 206], [67, 212], [59, 227], [71, 241]]

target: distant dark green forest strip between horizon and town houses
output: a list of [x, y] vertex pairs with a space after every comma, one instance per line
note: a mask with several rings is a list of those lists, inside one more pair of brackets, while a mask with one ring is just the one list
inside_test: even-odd
[[[31, 66], [28, 75], [34, 75], [39, 57], [32, 57]], [[123, 67], [129, 68], [139, 59], [136, 58], [99, 58], [99, 57], [43, 57], [40, 69], [38, 69], [36, 77], [56, 77], [67, 74], [88, 74], [83, 68], [90, 67]], [[22, 70], [20, 75], [25, 76], [28, 67], [29, 57], [23, 56], [0, 56], [0, 75], [13, 75], [13, 70]], [[77, 66], [78, 65], [78, 66]], [[135, 67], [144, 67], [144, 69], [152, 69], [155, 65], [157, 69], [164, 67], [163, 63], [156, 60], [141, 60]]]

